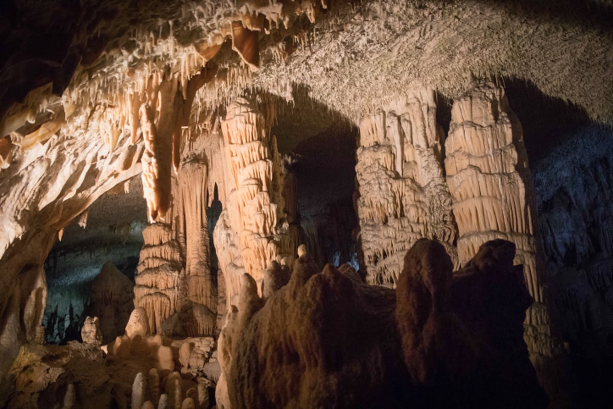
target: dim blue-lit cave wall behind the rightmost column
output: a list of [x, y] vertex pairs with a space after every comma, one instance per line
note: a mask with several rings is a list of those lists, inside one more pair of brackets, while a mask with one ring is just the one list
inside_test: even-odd
[[[613, 130], [585, 124], [533, 169], [550, 304], [589, 405], [611, 401]], [[598, 374], [597, 376], [588, 374]]]

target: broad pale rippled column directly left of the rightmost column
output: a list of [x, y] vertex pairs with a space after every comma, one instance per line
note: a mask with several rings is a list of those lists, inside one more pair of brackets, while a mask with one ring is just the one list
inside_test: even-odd
[[432, 90], [408, 93], [360, 124], [356, 208], [370, 283], [394, 285], [405, 251], [422, 237], [445, 243], [456, 259], [441, 134]]

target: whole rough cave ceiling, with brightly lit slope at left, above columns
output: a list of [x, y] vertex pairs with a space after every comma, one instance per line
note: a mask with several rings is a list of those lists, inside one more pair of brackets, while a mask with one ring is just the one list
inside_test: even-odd
[[[58, 231], [142, 171], [143, 121], [161, 117], [156, 109], [168, 103], [154, 96], [156, 87], [193, 99], [179, 121], [192, 133], [242, 94], [279, 97], [274, 130], [282, 153], [336, 123], [359, 123], [411, 86], [457, 97], [482, 77], [530, 82], [593, 120], [613, 119], [608, 2], [32, 0], [0, 7], [7, 232], [0, 253], [29, 240], [30, 225]], [[143, 101], [150, 112], [139, 112]]]

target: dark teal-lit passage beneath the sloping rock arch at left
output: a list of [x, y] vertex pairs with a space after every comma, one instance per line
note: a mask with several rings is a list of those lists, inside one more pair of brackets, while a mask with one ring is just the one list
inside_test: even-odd
[[80, 340], [88, 315], [101, 319], [105, 341], [123, 333], [134, 308], [134, 272], [147, 223], [140, 177], [128, 183], [129, 193], [118, 186], [66, 226], [47, 256], [48, 343]]

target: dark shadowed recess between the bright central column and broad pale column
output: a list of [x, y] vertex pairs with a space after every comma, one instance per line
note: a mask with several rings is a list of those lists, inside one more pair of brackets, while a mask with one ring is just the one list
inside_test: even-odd
[[348, 262], [358, 270], [353, 199], [358, 130], [300, 86], [292, 96], [293, 104], [280, 102], [272, 133], [296, 178], [302, 244], [319, 266]]

